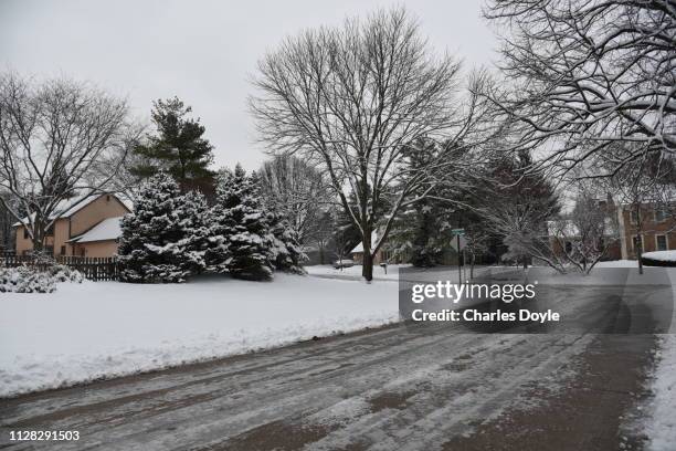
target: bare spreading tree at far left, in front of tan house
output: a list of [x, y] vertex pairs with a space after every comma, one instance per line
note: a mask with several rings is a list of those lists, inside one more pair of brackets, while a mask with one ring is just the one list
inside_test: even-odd
[[64, 200], [84, 202], [106, 188], [134, 129], [124, 101], [87, 84], [63, 78], [38, 84], [13, 72], [0, 74], [0, 189], [17, 203], [4, 197], [0, 202], [25, 221], [35, 251], [66, 208]]

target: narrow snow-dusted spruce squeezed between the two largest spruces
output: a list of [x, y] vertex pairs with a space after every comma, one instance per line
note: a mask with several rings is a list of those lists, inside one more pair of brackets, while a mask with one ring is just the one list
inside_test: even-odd
[[199, 274], [207, 269], [204, 253], [209, 248], [209, 207], [199, 191], [188, 191], [181, 197], [176, 214], [183, 238], [177, 243], [181, 256], [179, 266], [190, 274]]

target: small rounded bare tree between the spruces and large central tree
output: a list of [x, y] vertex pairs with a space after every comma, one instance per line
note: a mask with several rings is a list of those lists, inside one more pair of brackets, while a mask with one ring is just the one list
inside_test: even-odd
[[308, 244], [321, 227], [320, 217], [331, 201], [321, 172], [297, 157], [275, 156], [261, 168], [266, 201], [287, 221], [300, 244]]

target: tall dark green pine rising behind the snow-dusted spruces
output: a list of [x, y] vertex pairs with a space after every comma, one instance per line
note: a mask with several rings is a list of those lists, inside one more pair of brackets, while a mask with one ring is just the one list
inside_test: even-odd
[[163, 168], [183, 190], [209, 189], [213, 180], [209, 170], [213, 146], [202, 137], [204, 126], [199, 118], [187, 117], [191, 111], [178, 97], [154, 103], [151, 116], [157, 135], [135, 148], [138, 164], [130, 169], [131, 174], [147, 178]]

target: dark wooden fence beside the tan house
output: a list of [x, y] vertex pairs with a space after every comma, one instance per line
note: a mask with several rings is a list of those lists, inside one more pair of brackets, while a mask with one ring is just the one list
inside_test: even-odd
[[[116, 258], [59, 255], [56, 262], [77, 270], [91, 281], [116, 281], [119, 272]], [[2, 255], [0, 266], [31, 266], [46, 271], [51, 264], [34, 255]]]

